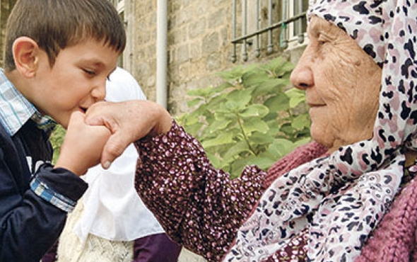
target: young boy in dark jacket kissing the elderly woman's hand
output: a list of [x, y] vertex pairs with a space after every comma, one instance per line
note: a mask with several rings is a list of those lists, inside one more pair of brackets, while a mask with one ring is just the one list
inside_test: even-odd
[[[126, 36], [106, 0], [18, 0], [0, 69], [0, 261], [39, 261], [87, 188], [110, 132], [84, 113], [105, 97]], [[48, 116], [48, 118], [47, 118]], [[67, 133], [50, 164], [52, 118]]]

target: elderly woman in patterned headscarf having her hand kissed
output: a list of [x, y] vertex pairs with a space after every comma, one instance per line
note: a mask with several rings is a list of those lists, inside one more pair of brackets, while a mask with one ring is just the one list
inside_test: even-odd
[[[137, 140], [141, 198], [209, 261], [414, 259], [417, 3], [321, 0], [308, 17], [291, 80], [327, 153], [308, 145], [271, 169], [282, 176], [248, 166], [230, 181], [160, 107], [101, 103], [87, 121], [114, 133], [102, 164]], [[306, 148], [316, 151], [303, 159]]]

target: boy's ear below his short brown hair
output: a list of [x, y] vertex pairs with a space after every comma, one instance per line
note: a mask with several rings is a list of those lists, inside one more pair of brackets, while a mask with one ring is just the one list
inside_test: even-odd
[[39, 46], [32, 38], [17, 38], [13, 42], [13, 58], [20, 74], [33, 77], [39, 62]]

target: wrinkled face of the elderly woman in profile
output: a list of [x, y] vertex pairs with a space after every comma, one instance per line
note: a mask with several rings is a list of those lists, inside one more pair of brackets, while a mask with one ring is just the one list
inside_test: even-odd
[[347, 33], [317, 16], [291, 81], [305, 90], [311, 135], [333, 152], [372, 137], [382, 69]]

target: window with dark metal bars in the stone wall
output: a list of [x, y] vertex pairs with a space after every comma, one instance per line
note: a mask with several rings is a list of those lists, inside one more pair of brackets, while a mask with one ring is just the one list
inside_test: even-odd
[[[311, 1], [311, 0], [310, 0]], [[233, 0], [233, 54], [237, 48], [247, 61], [255, 57], [303, 45], [309, 0]]]

